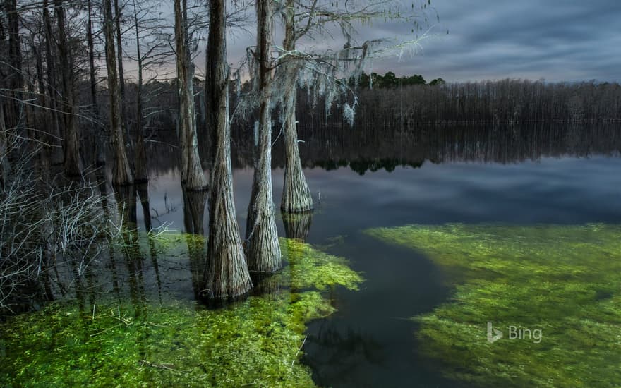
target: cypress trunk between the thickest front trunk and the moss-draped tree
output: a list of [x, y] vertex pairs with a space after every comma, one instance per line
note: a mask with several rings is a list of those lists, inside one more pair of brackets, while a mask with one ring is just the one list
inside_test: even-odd
[[282, 267], [274, 202], [272, 200], [272, 69], [270, 47], [272, 44], [271, 0], [258, 0], [257, 6], [257, 56], [260, 93], [258, 163], [255, 166], [253, 190], [246, 235], [248, 269], [251, 272], [270, 273]]

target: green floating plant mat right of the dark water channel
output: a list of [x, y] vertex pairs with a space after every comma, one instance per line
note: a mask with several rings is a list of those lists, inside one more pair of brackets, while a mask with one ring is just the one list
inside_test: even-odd
[[[481, 386], [621, 383], [621, 226], [449, 224], [366, 233], [428, 255], [455, 286], [451, 301], [414, 317], [420, 351], [448, 377]], [[487, 322], [504, 337], [488, 343]], [[510, 326], [511, 337], [540, 329], [541, 341], [527, 332], [510, 338]]]

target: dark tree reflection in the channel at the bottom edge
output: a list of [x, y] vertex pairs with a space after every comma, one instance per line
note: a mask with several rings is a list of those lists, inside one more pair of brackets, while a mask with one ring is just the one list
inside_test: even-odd
[[348, 376], [358, 374], [360, 365], [385, 366], [384, 349], [373, 337], [351, 327], [341, 332], [329, 324], [321, 322], [319, 329], [310, 329], [306, 340], [303, 363], [313, 370], [317, 384], [347, 383]]

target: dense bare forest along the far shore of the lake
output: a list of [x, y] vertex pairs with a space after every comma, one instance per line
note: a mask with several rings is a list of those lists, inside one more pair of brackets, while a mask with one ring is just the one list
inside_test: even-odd
[[[387, 73], [390, 75], [392, 73]], [[364, 80], [364, 77], [362, 77]], [[380, 80], [378, 82], [378, 79]], [[411, 126], [445, 123], [608, 123], [621, 121], [621, 85], [618, 83], [545, 83], [530, 80], [495, 80], [476, 83], [425, 83], [421, 75], [396, 78], [394, 83], [376, 78], [373, 87], [352, 88], [358, 97], [354, 126]], [[410, 80], [401, 82], [402, 80]], [[79, 88], [85, 90], [86, 88]], [[128, 83], [128, 102], [135, 85]], [[203, 83], [195, 79], [198, 127], [205, 128]], [[174, 81], [153, 81], [143, 86], [149, 131], [174, 128], [177, 120]], [[107, 93], [100, 94], [102, 106]], [[232, 106], [236, 90], [231, 87]], [[351, 99], [351, 98], [350, 98]], [[345, 99], [342, 99], [342, 103]], [[351, 101], [350, 101], [351, 103]], [[343, 119], [342, 104], [325, 113], [322, 99], [315, 100], [299, 90], [299, 126], [349, 126]], [[129, 103], [128, 120], [135, 122], [135, 107]], [[105, 111], [100, 109], [100, 111]], [[276, 112], [277, 113], [277, 112]], [[275, 120], [279, 122], [278, 114]], [[252, 125], [234, 117], [234, 126]], [[130, 126], [130, 128], [133, 126]], [[278, 131], [278, 128], [275, 128]]]

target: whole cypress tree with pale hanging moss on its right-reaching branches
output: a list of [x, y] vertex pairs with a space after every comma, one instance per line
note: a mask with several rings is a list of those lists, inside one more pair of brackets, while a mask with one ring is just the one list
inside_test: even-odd
[[[278, 87], [279, 104], [284, 123], [285, 166], [281, 210], [283, 212], [308, 212], [313, 210], [313, 198], [304, 176], [299, 153], [296, 121], [297, 87], [303, 85], [312, 91], [315, 102], [318, 97], [325, 101], [326, 115], [337, 97], [351, 92], [343, 77], [353, 75], [358, 78], [366, 59], [373, 56], [387, 56], [393, 51], [400, 53], [418, 39], [405, 42], [390, 40], [366, 40], [356, 44], [356, 23], [366, 23], [373, 19], [392, 19], [402, 22], [415, 22], [417, 13], [410, 4], [402, 1], [350, 0], [347, 5], [332, 0], [284, 0], [279, 8], [284, 27], [284, 40], [279, 56]], [[427, 4], [423, 5], [426, 8]], [[345, 44], [342, 48], [311, 51], [297, 47], [301, 39], [313, 40], [330, 35], [330, 30], [340, 30]], [[325, 42], [322, 42], [325, 43]], [[393, 44], [393, 47], [390, 47]], [[353, 123], [356, 99], [344, 106], [344, 120]]]

